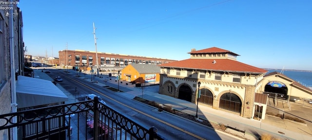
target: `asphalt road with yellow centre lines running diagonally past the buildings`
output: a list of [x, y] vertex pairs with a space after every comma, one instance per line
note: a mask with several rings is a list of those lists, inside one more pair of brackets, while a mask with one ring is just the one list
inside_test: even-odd
[[[140, 102], [130, 100], [118, 95], [118, 92], [100, 87], [75, 76], [77, 73], [67, 73], [63, 70], [51, 69], [47, 73], [51, 78], [61, 76], [63, 82], [59, 82], [64, 89], [75, 97], [83, 97], [94, 93], [100, 96], [106, 104], [117, 112], [127, 116], [131, 120], [146, 128], [155, 126], [157, 134], [168, 140], [234, 140], [230, 135], [216, 132], [214, 129], [179, 116], [156, 111], [157, 109]], [[82, 75], [90, 78], [90, 75]], [[108, 85], [110, 86], [110, 85]], [[114, 85], [115, 86], [115, 85]], [[129, 89], [128, 89], [129, 90]], [[137, 90], [137, 89], [134, 89]], [[78, 100], [77, 100], [78, 101]]]

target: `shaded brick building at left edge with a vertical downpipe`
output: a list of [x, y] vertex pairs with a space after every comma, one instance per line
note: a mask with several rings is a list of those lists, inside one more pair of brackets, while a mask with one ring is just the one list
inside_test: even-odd
[[[17, 2], [19, 0], [13, 0]], [[12, 6], [14, 10], [0, 10], [0, 114], [17, 111], [16, 77], [23, 75], [24, 42], [22, 36], [22, 15], [17, 4], [1, 5]], [[11, 118], [17, 122], [16, 117]], [[0, 124], [5, 120], [0, 119]], [[8, 131], [0, 130], [0, 140], [17, 138], [17, 128]]]

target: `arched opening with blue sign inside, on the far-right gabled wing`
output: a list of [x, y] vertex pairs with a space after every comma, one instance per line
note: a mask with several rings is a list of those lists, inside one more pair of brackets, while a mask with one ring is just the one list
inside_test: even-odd
[[271, 81], [264, 87], [264, 94], [268, 94], [271, 98], [288, 99], [288, 88], [286, 85], [279, 81]]

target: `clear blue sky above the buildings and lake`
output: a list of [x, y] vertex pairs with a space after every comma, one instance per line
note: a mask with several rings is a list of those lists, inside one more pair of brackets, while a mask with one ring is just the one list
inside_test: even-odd
[[183, 60], [210, 47], [259, 68], [312, 70], [312, 0], [20, 0], [31, 55], [60, 50]]

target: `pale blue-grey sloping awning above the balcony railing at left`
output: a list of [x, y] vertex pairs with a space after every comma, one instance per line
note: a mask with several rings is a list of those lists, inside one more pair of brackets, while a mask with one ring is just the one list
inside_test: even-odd
[[68, 97], [51, 81], [18, 76], [16, 82], [18, 108], [68, 101]]

